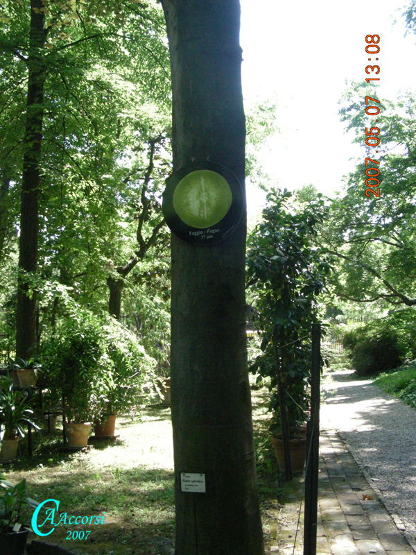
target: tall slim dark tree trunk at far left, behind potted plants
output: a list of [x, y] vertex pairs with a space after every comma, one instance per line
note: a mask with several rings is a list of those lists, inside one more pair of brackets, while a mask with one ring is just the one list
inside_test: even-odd
[[[34, 11], [37, 11], [35, 13]], [[19, 285], [17, 289], [16, 354], [25, 359], [36, 341], [36, 292], [28, 296], [28, 283], [23, 271], [37, 270], [37, 233], [39, 228], [40, 153], [44, 81], [46, 67], [42, 49], [46, 40], [42, 0], [31, 0], [31, 35], [28, 55], [28, 100], [24, 135], [23, 174], [21, 183]]]

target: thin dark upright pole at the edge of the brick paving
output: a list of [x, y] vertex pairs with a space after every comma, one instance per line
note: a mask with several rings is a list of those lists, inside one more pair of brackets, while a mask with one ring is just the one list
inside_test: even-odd
[[305, 477], [304, 555], [316, 555], [318, 521], [320, 324], [312, 325], [311, 420], [306, 428], [308, 453]]

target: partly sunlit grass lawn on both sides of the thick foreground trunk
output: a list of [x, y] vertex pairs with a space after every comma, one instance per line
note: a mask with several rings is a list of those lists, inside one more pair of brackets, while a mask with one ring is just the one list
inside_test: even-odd
[[[264, 387], [252, 391], [266, 546], [271, 545], [277, 504], [283, 495], [268, 432], [269, 395]], [[33, 457], [28, 457], [25, 438], [19, 445], [19, 460], [1, 468], [12, 484], [26, 478], [30, 497], [59, 500], [58, 514], [66, 512], [68, 519], [71, 515], [102, 517], [105, 513], [104, 524], [61, 524], [44, 540], [89, 555], [149, 555], [156, 538], [175, 539], [171, 410], [147, 407], [141, 411], [140, 420], [117, 418], [116, 434], [120, 434], [118, 441], [95, 441], [94, 449], [85, 453], [62, 452], [62, 430], [47, 436], [33, 434]], [[87, 540], [66, 540], [69, 530], [91, 533]], [[35, 538], [35, 534], [31, 536]]]

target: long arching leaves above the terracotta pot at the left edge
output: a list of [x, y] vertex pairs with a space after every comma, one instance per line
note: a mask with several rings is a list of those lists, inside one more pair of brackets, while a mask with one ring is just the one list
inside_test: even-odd
[[4, 437], [14, 438], [18, 434], [24, 437], [24, 424], [31, 424], [35, 429], [40, 429], [31, 404], [27, 391], [15, 391], [12, 380], [3, 378], [0, 389], [0, 425]]

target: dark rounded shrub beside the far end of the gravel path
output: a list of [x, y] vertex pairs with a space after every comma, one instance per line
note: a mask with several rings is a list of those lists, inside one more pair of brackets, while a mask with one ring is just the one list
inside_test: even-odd
[[[385, 370], [401, 366], [405, 350], [395, 330], [388, 327], [378, 329], [374, 323], [347, 332], [344, 346], [349, 352], [353, 368], [363, 376], [377, 375]], [[375, 328], [375, 329], [374, 329]]]

